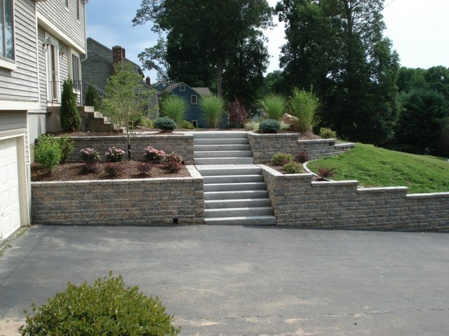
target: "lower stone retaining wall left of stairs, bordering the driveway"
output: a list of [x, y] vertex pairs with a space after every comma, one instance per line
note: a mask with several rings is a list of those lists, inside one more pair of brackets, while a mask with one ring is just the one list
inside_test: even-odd
[[203, 224], [203, 178], [32, 182], [32, 223]]

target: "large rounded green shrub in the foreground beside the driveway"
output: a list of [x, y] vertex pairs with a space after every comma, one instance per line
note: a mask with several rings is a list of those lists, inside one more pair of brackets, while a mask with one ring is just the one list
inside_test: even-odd
[[126, 288], [121, 276], [98, 278], [89, 286], [68, 283], [46, 304], [27, 311], [22, 336], [40, 335], [179, 335], [173, 316], [158, 297], [147, 297], [138, 286]]

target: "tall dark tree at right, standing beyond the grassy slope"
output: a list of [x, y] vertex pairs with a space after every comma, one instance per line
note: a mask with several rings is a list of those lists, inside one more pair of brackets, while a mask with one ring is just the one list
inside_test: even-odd
[[323, 123], [351, 140], [382, 144], [398, 118], [398, 55], [382, 36], [383, 0], [283, 0], [286, 86], [323, 102]]

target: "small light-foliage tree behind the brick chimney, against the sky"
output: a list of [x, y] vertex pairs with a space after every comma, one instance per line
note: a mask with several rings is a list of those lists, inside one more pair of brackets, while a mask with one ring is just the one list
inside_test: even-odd
[[163, 37], [159, 36], [157, 44], [140, 52], [138, 57], [142, 62], [143, 69], [157, 71], [158, 80], [170, 80], [168, 77], [170, 64], [167, 59], [167, 42]]

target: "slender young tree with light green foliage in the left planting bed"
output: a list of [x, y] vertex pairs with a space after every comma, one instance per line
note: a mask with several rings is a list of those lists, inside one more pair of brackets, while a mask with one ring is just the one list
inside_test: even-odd
[[148, 109], [154, 92], [142, 90], [140, 75], [128, 63], [115, 64], [114, 74], [107, 78], [106, 97], [102, 99], [101, 112], [111, 118], [114, 127], [123, 129], [128, 141], [128, 159], [131, 158], [131, 135], [135, 124]]

